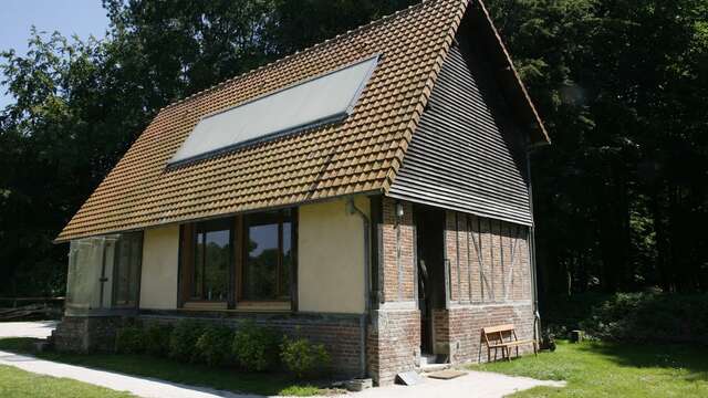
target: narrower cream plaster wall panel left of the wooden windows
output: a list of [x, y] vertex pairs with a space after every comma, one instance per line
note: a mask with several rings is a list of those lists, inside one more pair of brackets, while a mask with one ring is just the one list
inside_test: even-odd
[[145, 230], [140, 308], [177, 308], [179, 226]]

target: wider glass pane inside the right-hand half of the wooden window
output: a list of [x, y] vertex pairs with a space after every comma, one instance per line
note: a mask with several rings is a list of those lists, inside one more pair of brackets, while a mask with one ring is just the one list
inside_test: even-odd
[[[243, 295], [250, 300], [275, 298], [278, 223], [257, 224], [259, 220], [253, 221], [247, 230], [248, 259], [244, 269]], [[260, 222], [263, 221], [260, 220]]]

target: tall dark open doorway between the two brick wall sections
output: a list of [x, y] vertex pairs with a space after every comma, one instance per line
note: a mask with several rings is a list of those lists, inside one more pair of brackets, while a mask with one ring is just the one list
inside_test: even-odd
[[433, 311], [445, 308], [445, 211], [428, 206], [415, 206], [414, 222], [418, 253], [420, 352], [434, 354]]

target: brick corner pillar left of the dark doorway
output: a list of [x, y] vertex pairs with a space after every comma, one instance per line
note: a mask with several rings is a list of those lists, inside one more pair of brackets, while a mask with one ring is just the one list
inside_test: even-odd
[[[396, 213], [398, 203], [403, 216]], [[420, 363], [420, 313], [416, 300], [416, 237], [413, 205], [383, 198], [378, 237], [378, 308], [368, 327], [368, 373], [378, 385]]]

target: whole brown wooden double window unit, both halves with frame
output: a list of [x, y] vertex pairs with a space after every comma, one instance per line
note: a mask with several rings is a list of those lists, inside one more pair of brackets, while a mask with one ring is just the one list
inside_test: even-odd
[[183, 224], [178, 306], [291, 308], [295, 214], [289, 209]]

